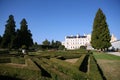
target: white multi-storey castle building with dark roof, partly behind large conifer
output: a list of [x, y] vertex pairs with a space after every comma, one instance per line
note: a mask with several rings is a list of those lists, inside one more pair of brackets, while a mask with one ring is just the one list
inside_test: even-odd
[[[111, 41], [116, 41], [117, 38], [114, 35], [111, 35]], [[66, 36], [65, 41], [62, 42], [62, 45], [65, 46], [66, 49], [73, 50], [73, 49], [79, 49], [80, 46], [88, 46], [90, 47], [90, 41], [91, 41], [91, 34], [80, 36], [79, 34], [76, 36]], [[91, 47], [92, 48], [92, 47]]]

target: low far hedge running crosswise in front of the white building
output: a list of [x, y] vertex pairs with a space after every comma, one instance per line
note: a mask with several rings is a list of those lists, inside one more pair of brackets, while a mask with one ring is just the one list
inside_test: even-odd
[[[40, 52], [39, 58], [44, 57], [44, 58], [54, 58], [54, 57], [64, 57], [65, 59], [73, 59], [73, 58], [79, 58], [82, 54], [86, 54], [87, 51], [84, 50], [80, 52], [81, 50], [72, 50], [72, 51], [43, 51]], [[37, 54], [37, 52], [36, 52]]]

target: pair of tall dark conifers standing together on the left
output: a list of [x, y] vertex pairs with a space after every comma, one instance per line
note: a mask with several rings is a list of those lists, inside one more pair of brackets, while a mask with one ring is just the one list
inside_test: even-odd
[[31, 31], [28, 29], [25, 18], [20, 22], [20, 29], [15, 29], [14, 16], [10, 15], [6, 21], [5, 31], [3, 36], [0, 36], [0, 47], [9, 49], [18, 49], [22, 46], [29, 48], [33, 45]]

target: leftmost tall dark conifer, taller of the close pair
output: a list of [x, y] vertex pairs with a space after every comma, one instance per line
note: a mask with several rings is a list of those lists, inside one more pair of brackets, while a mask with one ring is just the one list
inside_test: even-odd
[[12, 48], [13, 40], [15, 38], [15, 21], [14, 16], [10, 15], [7, 20], [7, 24], [5, 25], [5, 32], [3, 34], [3, 39], [1, 43], [1, 47], [3, 48]]

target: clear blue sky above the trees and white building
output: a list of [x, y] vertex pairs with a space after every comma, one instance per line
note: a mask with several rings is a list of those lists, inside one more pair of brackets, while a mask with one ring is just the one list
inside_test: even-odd
[[92, 32], [97, 10], [106, 15], [110, 33], [120, 39], [120, 0], [0, 0], [0, 35], [12, 14], [16, 28], [25, 18], [34, 42], [64, 41], [67, 35]]

